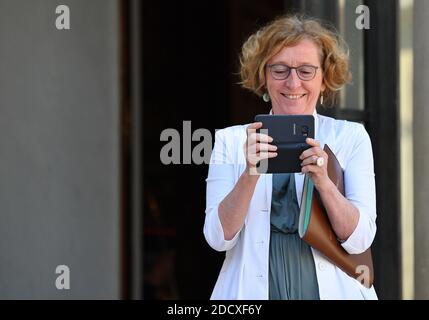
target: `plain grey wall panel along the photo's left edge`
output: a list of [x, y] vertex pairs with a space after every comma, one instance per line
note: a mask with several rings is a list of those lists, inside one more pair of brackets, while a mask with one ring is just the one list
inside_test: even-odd
[[119, 297], [117, 2], [0, 1], [0, 299]]

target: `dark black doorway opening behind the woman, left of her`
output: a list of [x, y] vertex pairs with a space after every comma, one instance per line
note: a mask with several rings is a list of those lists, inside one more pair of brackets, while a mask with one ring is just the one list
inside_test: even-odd
[[224, 256], [203, 235], [208, 165], [163, 165], [160, 135], [176, 129], [183, 150], [183, 121], [214, 134], [266, 112], [236, 84], [237, 55], [283, 1], [144, 1], [142, 11], [143, 298], [208, 299]]

